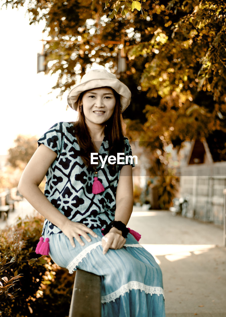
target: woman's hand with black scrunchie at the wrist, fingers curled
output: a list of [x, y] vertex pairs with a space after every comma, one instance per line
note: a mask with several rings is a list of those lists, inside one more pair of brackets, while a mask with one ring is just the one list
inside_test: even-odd
[[125, 243], [126, 239], [122, 236], [122, 231], [113, 227], [102, 238], [103, 254], [106, 254], [108, 249], [121, 249]]

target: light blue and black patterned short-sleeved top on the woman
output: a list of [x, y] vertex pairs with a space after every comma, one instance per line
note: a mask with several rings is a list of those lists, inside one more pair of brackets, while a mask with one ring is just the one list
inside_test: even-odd
[[[129, 140], [124, 137], [125, 155], [132, 155]], [[116, 189], [120, 170], [124, 165], [102, 163], [97, 166], [98, 180], [104, 185], [104, 192], [92, 194], [94, 168], [86, 167], [79, 156], [80, 147], [75, 137], [73, 123], [58, 122], [39, 140], [53, 150], [57, 157], [46, 174], [45, 196], [68, 219], [84, 223], [87, 227], [102, 228], [114, 220], [116, 210]], [[108, 141], [104, 140], [98, 155], [104, 159], [108, 152]], [[128, 165], [134, 165], [134, 161]], [[43, 231], [47, 234], [62, 231], [47, 219]]]

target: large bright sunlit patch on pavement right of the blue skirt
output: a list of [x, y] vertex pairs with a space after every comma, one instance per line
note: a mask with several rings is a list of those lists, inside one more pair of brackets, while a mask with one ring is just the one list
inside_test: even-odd
[[215, 244], [141, 244], [148, 252], [150, 252], [155, 261], [160, 264], [157, 256], [165, 256], [170, 262], [185, 259], [188, 256], [199, 255], [207, 252], [209, 249], [215, 248]]

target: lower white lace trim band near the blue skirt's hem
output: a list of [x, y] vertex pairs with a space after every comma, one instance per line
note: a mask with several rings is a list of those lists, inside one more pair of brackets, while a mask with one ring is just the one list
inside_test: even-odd
[[158, 296], [163, 295], [164, 297], [163, 289], [159, 286], [148, 286], [141, 282], [130, 281], [129, 283], [122, 285], [115, 292], [102, 296], [101, 303], [103, 304], [109, 303], [110, 301], [115, 301], [116, 298], [124, 295], [126, 292], [129, 293], [129, 291], [131, 291], [132, 289], [139, 289], [140, 291], [144, 291], [146, 294], [156, 294]]

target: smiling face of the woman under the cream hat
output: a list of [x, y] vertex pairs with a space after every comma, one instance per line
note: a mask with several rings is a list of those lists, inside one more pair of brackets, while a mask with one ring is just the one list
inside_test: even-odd
[[103, 125], [113, 114], [116, 99], [111, 88], [101, 87], [85, 92], [82, 97], [85, 122]]

